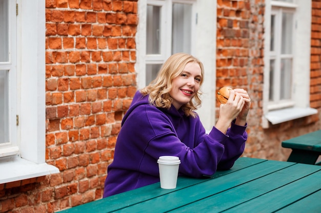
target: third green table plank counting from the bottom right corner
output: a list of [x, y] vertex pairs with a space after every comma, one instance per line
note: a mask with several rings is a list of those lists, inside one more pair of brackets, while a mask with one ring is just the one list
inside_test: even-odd
[[[270, 165], [268, 165], [268, 167], [270, 167]], [[172, 212], [190, 212], [195, 210], [198, 212], [220, 212], [309, 175], [318, 170], [318, 168], [316, 169], [314, 167], [315, 166], [311, 166], [307, 168], [307, 165], [304, 164], [294, 164], [291, 167], [284, 168], [272, 174], [267, 174], [260, 178], [253, 178], [252, 181], [244, 181], [244, 184], [231, 187], [229, 190], [221, 190], [222, 193], [213, 194], [212, 196], [204, 198], [198, 202], [185, 205], [184, 207], [178, 208]], [[255, 173], [252, 175], [255, 175]], [[204, 190], [203, 187], [202, 190]], [[234, 212], [240, 211], [237, 210]], [[253, 210], [246, 212], [258, 211]]]

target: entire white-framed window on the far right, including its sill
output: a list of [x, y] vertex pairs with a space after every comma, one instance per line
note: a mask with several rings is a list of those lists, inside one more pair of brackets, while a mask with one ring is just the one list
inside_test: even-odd
[[268, 121], [278, 124], [317, 111], [309, 107], [311, 1], [267, 1], [265, 20], [267, 128]]

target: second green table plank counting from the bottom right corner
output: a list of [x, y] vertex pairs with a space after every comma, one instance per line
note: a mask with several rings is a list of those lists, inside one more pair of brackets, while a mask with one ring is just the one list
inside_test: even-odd
[[[316, 165], [312, 166], [318, 167]], [[259, 196], [248, 202], [244, 202], [224, 212], [274, 212], [276, 210], [282, 209], [284, 206], [290, 205], [306, 196], [309, 196], [310, 194], [315, 193], [316, 191], [320, 190], [320, 187], [321, 171], [313, 173], [305, 178], [298, 179], [297, 181], [291, 182], [290, 184], [279, 187], [274, 191], [263, 194], [262, 196]], [[320, 197], [318, 200], [318, 204], [320, 206]]]

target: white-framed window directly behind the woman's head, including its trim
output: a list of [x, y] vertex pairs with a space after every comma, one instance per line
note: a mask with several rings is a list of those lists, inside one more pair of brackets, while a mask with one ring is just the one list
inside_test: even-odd
[[[204, 63], [204, 95], [198, 114], [206, 129], [215, 121], [216, 1], [139, 0], [138, 87], [148, 85], [172, 54], [192, 54]], [[209, 25], [209, 22], [212, 23]]]

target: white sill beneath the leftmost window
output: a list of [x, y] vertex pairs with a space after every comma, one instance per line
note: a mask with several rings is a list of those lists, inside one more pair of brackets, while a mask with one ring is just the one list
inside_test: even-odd
[[0, 184], [59, 173], [53, 165], [37, 164], [18, 156], [0, 158], [0, 171]]

